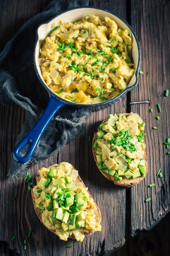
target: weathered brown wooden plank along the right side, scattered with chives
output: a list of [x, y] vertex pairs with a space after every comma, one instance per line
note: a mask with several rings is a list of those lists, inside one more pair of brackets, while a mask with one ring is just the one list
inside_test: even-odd
[[[170, 89], [170, 2], [169, 1], [132, 1], [131, 23], [137, 33], [142, 50], [144, 75], [139, 85], [131, 93], [132, 101], [150, 100], [148, 104], [132, 105], [131, 110], [139, 113], [146, 122], [146, 145], [148, 175], [132, 187], [131, 234], [151, 229], [170, 210], [170, 157], [163, 145], [170, 136], [170, 101], [164, 97], [164, 90]], [[160, 103], [162, 113], [157, 111]], [[149, 112], [153, 108], [153, 113]], [[155, 117], [159, 115], [160, 120]], [[157, 126], [158, 130], [152, 130]], [[162, 168], [163, 177], [156, 176]], [[148, 188], [148, 184], [156, 186]], [[152, 201], [145, 203], [150, 197]], [[135, 216], [135, 218], [134, 218]]]

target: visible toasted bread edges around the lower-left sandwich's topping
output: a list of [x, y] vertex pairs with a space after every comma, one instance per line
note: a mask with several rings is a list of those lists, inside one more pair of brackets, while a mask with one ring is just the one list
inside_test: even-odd
[[[51, 166], [49, 166], [47, 169], [50, 169], [50, 168], [56, 168], [58, 166], [58, 164], [53, 164], [53, 165], [51, 165]], [[73, 166], [73, 168], [74, 168], [74, 166]], [[74, 168], [75, 169], [75, 168]], [[36, 175], [36, 181], [37, 181], [37, 183], [40, 181], [40, 173], [38, 173], [37, 175]], [[86, 187], [85, 185], [84, 185], [84, 182], [82, 181], [82, 179], [80, 178], [80, 176], [78, 175], [77, 177], [76, 177], [76, 180], [75, 180], [75, 184], [77, 184], [77, 183], [79, 183], [79, 182], [82, 182], [82, 184], [83, 184], [83, 186], [84, 187]], [[88, 194], [89, 194], [89, 198], [92, 198], [92, 196], [91, 196], [91, 194], [89, 193], [89, 191], [87, 191], [88, 192]], [[33, 189], [31, 189], [31, 195], [32, 195], [32, 199], [33, 199], [33, 205], [34, 205], [34, 209], [35, 209], [35, 213], [37, 214], [37, 216], [38, 216], [38, 218], [40, 219], [40, 221], [42, 222], [42, 213], [43, 213], [43, 211], [44, 210], [40, 210], [40, 209], [38, 209], [36, 206], [35, 206], [35, 198], [34, 198], [34, 195], [33, 195]], [[96, 204], [96, 202], [94, 201], [94, 203], [95, 203], [95, 206], [96, 206], [96, 210], [95, 210], [95, 216], [96, 216], [96, 218], [95, 218], [95, 220], [96, 220], [96, 222], [97, 223], [100, 223], [101, 222], [101, 212], [100, 212], [100, 210], [99, 210], [99, 207], [97, 206], [97, 204]], [[44, 223], [42, 222], [42, 224], [44, 225]], [[45, 226], [45, 225], [44, 225]], [[46, 227], [46, 226], [45, 226]], [[49, 229], [48, 227], [46, 227], [47, 229]], [[52, 230], [52, 229], [49, 229], [51, 232], [53, 232], [54, 234], [55, 234], [55, 230]], [[84, 235], [85, 235], [85, 237], [86, 236], [90, 236], [91, 234], [93, 234], [95, 231], [93, 231], [93, 230], [89, 230], [89, 232], [86, 232], [86, 233], [84, 233]], [[71, 238], [71, 239], [75, 239], [75, 236], [74, 236], [74, 234], [72, 234], [71, 236], [68, 236], [68, 238]]]

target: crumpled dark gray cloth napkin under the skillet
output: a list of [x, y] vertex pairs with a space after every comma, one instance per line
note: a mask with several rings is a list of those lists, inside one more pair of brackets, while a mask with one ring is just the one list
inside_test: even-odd
[[[17, 137], [16, 144], [38, 121], [49, 99], [33, 67], [37, 27], [66, 9], [88, 5], [88, 0], [71, 0], [68, 6], [64, 2], [54, 0], [48, 5], [46, 11], [28, 20], [0, 54], [0, 103], [6, 106], [16, 104], [26, 110], [26, 121], [21, 134]], [[46, 128], [33, 157], [27, 163], [18, 164], [11, 157], [9, 177], [16, 178], [31, 165], [56, 154], [81, 132], [89, 114], [90, 111], [84, 108], [73, 110], [63, 107], [60, 109]]]

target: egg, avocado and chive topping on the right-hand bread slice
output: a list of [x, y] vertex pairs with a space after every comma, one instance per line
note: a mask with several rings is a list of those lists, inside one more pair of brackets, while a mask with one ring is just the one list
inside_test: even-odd
[[136, 113], [108, 115], [107, 121], [99, 126], [93, 144], [98, 168], [119, 181], [143, 177], [146, 172], [144, 126]]

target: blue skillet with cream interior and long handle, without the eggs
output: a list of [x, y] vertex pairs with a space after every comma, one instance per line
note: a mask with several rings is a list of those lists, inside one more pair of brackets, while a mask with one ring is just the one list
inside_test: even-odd
[[[51, 24], [55, 22], [57, 25], [59, 20], [62, 22], [75, 22], [77, 20], [81, 20], [86, 14], [94, 14], [95, 16], [99, 16], [101, 20], [104, 20], [105, 16], [115, 20], [118, 27], [122, 29], [129, 29], [132, 33], [132, 56], [135, 62], [135, 74], [133, 75], [132, 79], [130, 80], [126, 89], [124, 89], [121, 93], [115, 96], [112, 99], [108, 99], [107, 101], [95, 104], [81, 104], [66, 101], [61, 97], [57, 96], [52, 90], [46, 85], [40, 70], [40, 66], [38, 65], [38, 56], [39, 56], [39, 49], [42, 45], [42, 40], [49, 34], [51, 30]], [[33, 155], [35, 148], [44, 132], [46, 127], [48, 126], [49, 122], [62, 106], [67, 105], [73, 108], [90, 108], [91, 110], [100, 110], [102, 108], [106, 108], [110, 106], [112, 103], [117, 101], [123, 94], [127, 93], [128, 91], [134, 89], [138, 83], [138, 74], [139, 74], [139, 67], [141, 62], [141, 51], [139, 46], [139, 41], [133, 29], [130, 25], [123, 20], [120, 16], [115, 15], [111, 12], [108, 12], [104, 9], [99, 9], [95, 7], [81, 7], [81, 8], [74, 8], [68, 11], [61, 13], [60, 15], [56, 16], [55, 18], [47, 21], [46, 23], [40, 25], [36, 31], [36, 43], [34, 49], [34, 67], [35, 72], [40, 79], [44, 88], [49, 92], [49, 103], [46, 107], [46, 110], [40, 117], [39, 121], [35, 126], [31, 129], [31, 131], [18, 143], [18, 145], [13, 150], [13, 159], [18, 163], [25, 163], [27, 162]], [[29, 149], [26, 154], [23, 156], [21, 153], [22, 149], [29, 144]]]

